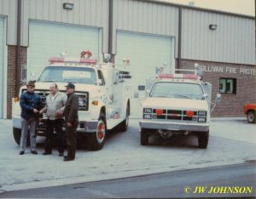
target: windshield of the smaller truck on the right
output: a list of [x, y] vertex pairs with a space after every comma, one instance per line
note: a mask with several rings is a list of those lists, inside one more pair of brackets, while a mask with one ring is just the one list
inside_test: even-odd
[[156, 82], [150, 97], [202, 99], [203, 90], [196, 83]]

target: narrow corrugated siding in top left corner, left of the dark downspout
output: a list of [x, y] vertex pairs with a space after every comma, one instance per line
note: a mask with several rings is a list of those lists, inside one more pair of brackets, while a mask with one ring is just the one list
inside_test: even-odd
[[17, 30], [17, 1], [16, 0], [0, 0], [0, 15], [7, 16], [7, 43], [16, 45]]

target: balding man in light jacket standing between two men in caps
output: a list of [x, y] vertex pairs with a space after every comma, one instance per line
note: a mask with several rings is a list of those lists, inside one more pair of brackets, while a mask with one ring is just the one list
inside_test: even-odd
[[56, 83], [51, 83], [49, 86], [49, 94], [46, 97], [46, 105], [40, 112], [47, 112], [46, 121], [46, 142], [45, 151], [43, 155], [50, 155], [52, 153], [54, 129], [57, 133], [59, 156], [63, 156], [65, 147], [65, 133], [62, 130], [64, 119], [63, 111], [67, 101], [67, 94], [62, 94], [58, 91]]

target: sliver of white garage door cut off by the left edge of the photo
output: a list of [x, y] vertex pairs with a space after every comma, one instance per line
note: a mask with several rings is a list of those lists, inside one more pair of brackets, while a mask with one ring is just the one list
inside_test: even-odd
[[3, 18], [0, 17], [0, 118], [3, 118], [3, 46], [4, 46], [4, 23]]

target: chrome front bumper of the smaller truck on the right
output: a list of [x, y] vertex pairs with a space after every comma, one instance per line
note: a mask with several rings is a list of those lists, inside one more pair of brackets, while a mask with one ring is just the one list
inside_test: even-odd
[[190, 132], [207, 132], [208, 123], [189, 123], [189, 122], [160, 122], [160, 121], [140, 121], [141, 128], [170, 131], [190, 131]]

